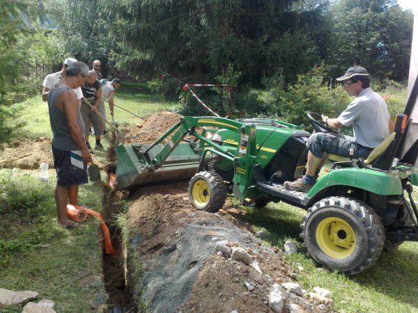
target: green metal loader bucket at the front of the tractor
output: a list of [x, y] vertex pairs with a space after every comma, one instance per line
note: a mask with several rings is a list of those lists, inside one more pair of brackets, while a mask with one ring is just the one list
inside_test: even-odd
[[[148, 151], [148, 149], [151, 149]], [[176, 182], [190, 179], [199, 167], [199, 155], [189, 143], [180, 143], [162, 165], [153, 166], [153, 160], [164, 145], [120, 145], [115, 148], [118, 157], [116, 188]]]

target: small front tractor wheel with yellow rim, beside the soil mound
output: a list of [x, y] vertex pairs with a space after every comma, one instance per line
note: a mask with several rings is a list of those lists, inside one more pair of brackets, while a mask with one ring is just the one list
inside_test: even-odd
[[224, 179], [216, 172], [198, 172], [189, 183], [189, 201], [199, 211], [219, 211], [226, 201]]

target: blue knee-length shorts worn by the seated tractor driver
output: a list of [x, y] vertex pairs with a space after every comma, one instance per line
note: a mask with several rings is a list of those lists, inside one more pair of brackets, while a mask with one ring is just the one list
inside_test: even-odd
[[309, 137], [307, 147], [315, 157], [321, 159], [324, 152], [340, 155], [341, 157], [351, 157], [350, 149], [354, 150], [354, 159], [367, 159], [373, 148], [363, 147], [354, 141], [353, 137], [330, 134], [314, 133]]

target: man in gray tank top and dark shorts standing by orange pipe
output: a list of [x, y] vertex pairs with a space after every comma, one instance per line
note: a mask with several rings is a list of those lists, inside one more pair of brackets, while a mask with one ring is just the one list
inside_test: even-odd
[[67, 204], [79, 205], [78, 188], [88, 183], [87, 163], [91, 161], [84, 141], [84, 122], [77, 96], [72, 91], [84, 85], [88, 66], [72, 62], [65, 77], [47, 94], [49, 122], [52, 129], [52, 154], [56, 169], [55, 200], [58, 224], [74, 228], [67, 216]]

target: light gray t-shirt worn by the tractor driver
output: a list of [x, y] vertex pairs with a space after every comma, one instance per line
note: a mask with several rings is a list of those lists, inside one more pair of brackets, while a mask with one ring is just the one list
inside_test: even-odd
[[384, 99], [364, 89], [339, 115], [344, 126], [353, 124], [354, 138], [363, 147], [376, 147], [389, 136], [389, 111]]

